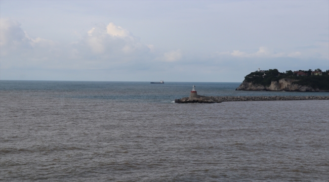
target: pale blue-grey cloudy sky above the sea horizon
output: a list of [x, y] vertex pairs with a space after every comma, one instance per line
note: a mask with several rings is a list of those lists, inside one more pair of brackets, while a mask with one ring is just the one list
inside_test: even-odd
[[329, 1], [0, 1], [0, 79], [242, 82], [329, 69]]

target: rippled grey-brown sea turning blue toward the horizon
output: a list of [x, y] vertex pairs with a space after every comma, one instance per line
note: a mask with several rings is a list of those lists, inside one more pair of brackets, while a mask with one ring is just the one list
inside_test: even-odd
[[328, 181], [329, 96], [230, 82], [0, 80], [3, 181]]

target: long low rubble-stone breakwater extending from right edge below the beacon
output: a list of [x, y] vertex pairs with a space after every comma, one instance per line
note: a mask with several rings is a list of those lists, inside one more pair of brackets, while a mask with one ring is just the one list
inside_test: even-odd
[[[203, 96], [204, 97], [204, 96]], [[210, 96], [198, 100], [188, 98], [175, 99], [175, 103], [221, 103], [231, 101], [294, 101], [294, 100], [329, 100], [329, 96]]]

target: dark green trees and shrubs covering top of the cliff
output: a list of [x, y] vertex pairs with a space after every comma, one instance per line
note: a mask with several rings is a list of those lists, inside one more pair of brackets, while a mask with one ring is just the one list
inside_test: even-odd
[[[321, 72], [320, 69], [315, 69], [314, 71]], [[260, 84], [264, 86], [269, 86], [272, 81], [278, 81], [283, 78], [289, 78], [296, 80], [294, 83], [299, 85], [311, 86], [314, 89], [318, 88], [321, 90], [329, 90], [329, 70], [322, 72], [322, 75], [312, 75], [312, 70], [299, 70], [299, 72], [305, 73], [305, 75], [297, 75], [292, 70], [285, 72], [279, 72], [277, 69], [269, 69], [266, 71], [256, 71], [252, 72], [244, 77], [244, 81], [252, 82], [253, 84]], [[307, 75], [306, 75], [307, 74]]]

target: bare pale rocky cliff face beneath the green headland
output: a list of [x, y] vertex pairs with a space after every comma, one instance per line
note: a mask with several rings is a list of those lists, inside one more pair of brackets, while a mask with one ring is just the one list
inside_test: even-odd
[[243, 81], [236, 90], [269, 90], [269, 91], [295, 91], [295, 92], [318, 92], [319, 89], [314, 89], [311, 86], [298, 85], [293, 83], [293, 79], [283, 78], [279, 81], [272, 81], [270, 86], [261, 84], [253, 84], [252, 82]]

